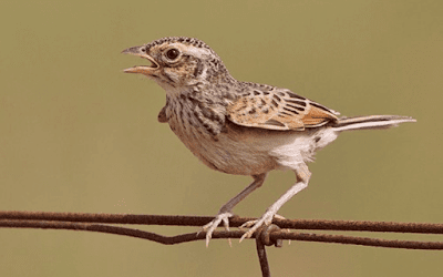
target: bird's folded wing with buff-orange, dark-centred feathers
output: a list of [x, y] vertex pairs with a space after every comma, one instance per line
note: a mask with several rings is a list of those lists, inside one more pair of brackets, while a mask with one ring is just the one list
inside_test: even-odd
[[258, 86], [246, 91], [227, 106], [228, 119], [243, 126], [269, 130], [318, 127], [337, 121], [338, 112], [296, 93]]

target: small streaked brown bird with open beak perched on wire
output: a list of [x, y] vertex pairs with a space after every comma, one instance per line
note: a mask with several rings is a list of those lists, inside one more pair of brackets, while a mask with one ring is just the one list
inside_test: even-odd
[[260, 187], [275, 170], [293, 171], [296, 183], [249, 227], [240, 242], [269, 226], [293, 195], [308, 186], [307, 163], [341, 132], [380, 130], [415, 122], [411, 116], [340, 116], [324, 105], [289, 89], [238, 81], [205, 42], [195, 38], [167, 37], [122, 51], [148, 61], [123, 70], [155, 81], [166, 92], [158, 122], [168, 123], [185, 146], [209, 168], [248, 175], [253, 182], [223, 205], [202, 227], [206, 246], [223, 224], [229, 230], [233, 208]]

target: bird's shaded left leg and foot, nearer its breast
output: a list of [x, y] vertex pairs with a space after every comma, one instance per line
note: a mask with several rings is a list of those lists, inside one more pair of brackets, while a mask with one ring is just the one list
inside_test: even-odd
[[231, 211], [233, 208], [240, 203], [240, 201], [245, 199], [251, 192], [256, 188], [260, 187], [265, 182], [267, 173], [262, 173], [259, 175], [254, 175], [254, 182], [248, 185], [245, 189], [243, 189], [239, 194], [234, 196], [230, 201], [228, 201], [222, 208], [218, 211], [218, 214], [215, 218], [202, 227], [202, 230], [206, 232], [206, 247], [209, 245], [209, 240], [213, 236], [214, 230], [217, 226], [223, 222], [223, 225], [226, 230], [229, 230], [229, 217], [233, 216]]

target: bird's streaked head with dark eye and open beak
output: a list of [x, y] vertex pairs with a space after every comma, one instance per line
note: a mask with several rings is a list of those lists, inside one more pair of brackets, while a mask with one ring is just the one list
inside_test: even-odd
[[151, 62], [150, 65], [125, 69], [124, 72], [144, 74], [166, 91], [230, 78], [220, 58], [197, 39], [164, 38], [128, 48], [122, 53], [137, 55]]

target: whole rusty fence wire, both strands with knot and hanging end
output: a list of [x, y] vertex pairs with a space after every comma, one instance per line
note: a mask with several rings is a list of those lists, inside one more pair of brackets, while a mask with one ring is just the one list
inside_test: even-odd
[[[244, 223], [253, 219], [256, 218], [234, 216], [229, 218], [229, 225], [231, 227], [239, 227]], [[109, 224], [203, 226], [210, 220], [213, 220], [213, 217], [210, 216], [0, 211], [0, 227], [97, 232], [143, 238], [164, 245], [202, 240], [205, 239], [206, 233], [197, 232], [176, 236], [163, 236], [146, 230], [113, 226]], [[307, 234], [289, 232], [288, 229], [443, 234], [443, 224], [324, 219], [274, 219], [270, 226], [262, 227], [253, 236], [253, 238], [256, 239], [257, 254], [259, 257], [262, 276], [270, 276], [265, 246], [275, 245], [277, 247], [281, 247], [282, 239], [403, 249], [443, 250], [443, 242], [390, 240], [359, 236]], [[244, 233], [244, 230], [217, 230], [214, 232], [213, 239], [240, 238]]]

